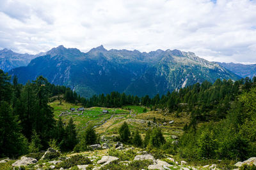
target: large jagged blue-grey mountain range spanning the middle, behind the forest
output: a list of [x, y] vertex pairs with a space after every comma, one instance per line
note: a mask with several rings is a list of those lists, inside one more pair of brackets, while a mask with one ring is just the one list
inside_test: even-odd
[[45, 76], [51, 83], [66, 85], [84, 97], [112, 91], [154, 96], [204, 80], [240, 77], [214, 62], [179, 50], [106, 50], [103, 46], [87, 53], [58, 46], [31, 60], [26, 67], [12, 69], [20, 83]]

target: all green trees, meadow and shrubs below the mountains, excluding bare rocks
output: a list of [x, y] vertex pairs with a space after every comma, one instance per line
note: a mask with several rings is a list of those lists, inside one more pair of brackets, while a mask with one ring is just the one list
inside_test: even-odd
[[[26, 85], [10, 80], [0, 72], [0, 154], [35, 158], [27, 169], [50, 168], [50, 160], [60, 160], [55, 169], [154, 169], [161, 161], [172, 169], [232, 169], [255, 156], [256, 78], [204, 81], [152, 98], [111, 92], [88, 99], [42, 76]], [[41, 159], [49, 147], [61, 153]], [[99, 166], [106, 155], [117, 159]], [[6, 161], [1, 169], [15, 162]]]

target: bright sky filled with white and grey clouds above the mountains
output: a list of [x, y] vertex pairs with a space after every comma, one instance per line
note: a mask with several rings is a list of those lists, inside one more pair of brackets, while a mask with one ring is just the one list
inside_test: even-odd
[[256, 63], [256, 0], [0, 0], [0, 49], [195, 52]]

